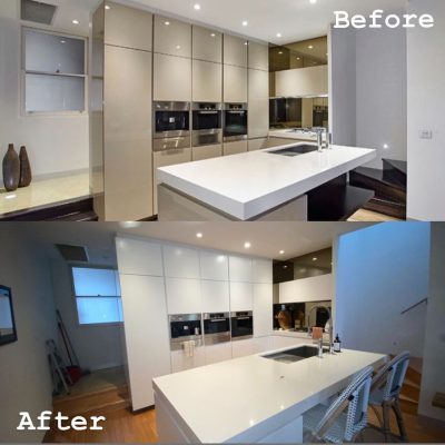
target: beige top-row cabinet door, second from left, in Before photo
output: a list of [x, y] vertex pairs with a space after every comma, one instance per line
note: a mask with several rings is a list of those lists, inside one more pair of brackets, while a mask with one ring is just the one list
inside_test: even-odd
[[155, 16], [154, 51], [191, 58], [191, 24]]

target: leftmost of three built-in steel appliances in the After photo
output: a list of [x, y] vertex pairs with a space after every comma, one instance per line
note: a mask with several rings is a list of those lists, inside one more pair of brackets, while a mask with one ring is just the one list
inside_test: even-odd
[[200, 314], [171, 315], [170, 349], [180, 350], [187, 343], [194, 342], [194, 347], [202, 346], [202, 316]]

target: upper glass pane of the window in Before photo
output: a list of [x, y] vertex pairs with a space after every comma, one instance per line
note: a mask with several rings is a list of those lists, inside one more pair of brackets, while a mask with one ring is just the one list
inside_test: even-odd
[[24, 31], [24, 69], [85, 75], [85, 40], [28, 29]]

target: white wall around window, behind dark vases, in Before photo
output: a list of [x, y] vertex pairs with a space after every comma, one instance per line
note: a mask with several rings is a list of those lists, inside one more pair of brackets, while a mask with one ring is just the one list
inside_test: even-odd
[[0, 7], [0, 158], [8, 144], [24, 145], [34, 177], [88, 169], [88, 116], [21, 116], [18, 6], [2, 0]]

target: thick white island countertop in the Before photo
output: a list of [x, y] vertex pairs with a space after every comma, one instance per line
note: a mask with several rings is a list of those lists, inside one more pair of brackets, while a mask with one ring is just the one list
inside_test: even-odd
[[164, 167], [160, 182], [240, 220], [296, 199], [376, 157], [376, 150], [333, 149], [286, 157], [273, 149]]

